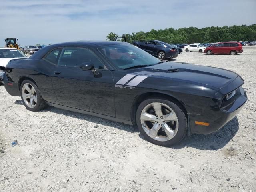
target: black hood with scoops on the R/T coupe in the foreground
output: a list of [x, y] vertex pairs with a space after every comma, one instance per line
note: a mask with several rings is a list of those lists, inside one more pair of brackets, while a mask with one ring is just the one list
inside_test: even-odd
[[232, 71], [221, 68], [178, 62], [164, 62], [154, 66], [140, 68], [140, 70], [135, 73], [159, 78], [170, 78], [217, 89], [223, 88], [238, 76], [238, 74]]

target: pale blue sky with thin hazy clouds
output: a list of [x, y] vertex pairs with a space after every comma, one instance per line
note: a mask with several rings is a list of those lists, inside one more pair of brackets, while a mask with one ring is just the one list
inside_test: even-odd
[[0, 0], [0, 46], [22, 46], [194, 26], [256, 23], [256, 0]]

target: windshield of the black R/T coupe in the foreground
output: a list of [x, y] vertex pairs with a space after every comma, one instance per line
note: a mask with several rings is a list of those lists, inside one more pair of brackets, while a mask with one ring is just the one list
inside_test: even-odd
[[155, 65], [160, 60], [131, 44], [116, 44], [99, 47], [98, 50], [119, 69], [134, 66]]

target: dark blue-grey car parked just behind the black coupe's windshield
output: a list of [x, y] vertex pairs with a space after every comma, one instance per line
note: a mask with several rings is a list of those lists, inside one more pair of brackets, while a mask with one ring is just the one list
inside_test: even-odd
[[177, 48], [163, 41], [136, 41], [133, 42], [133, 45], [143, 49], [144, 51], [154, 56], [158, 56], [159, 59], [175, 58], [179, 55], [179, 50]]

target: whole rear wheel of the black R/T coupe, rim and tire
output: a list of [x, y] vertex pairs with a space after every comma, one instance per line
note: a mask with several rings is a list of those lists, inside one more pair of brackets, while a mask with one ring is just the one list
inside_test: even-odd
[[40, 90], [30, 80], [24, 80], [20, 86], [21, 99], [27, 110], [38, 111], [46, 106]]

